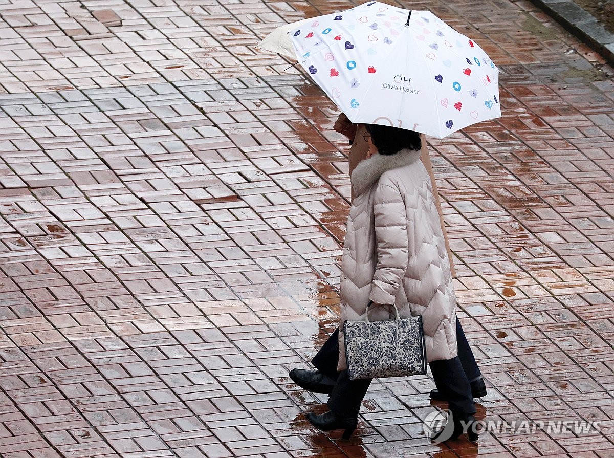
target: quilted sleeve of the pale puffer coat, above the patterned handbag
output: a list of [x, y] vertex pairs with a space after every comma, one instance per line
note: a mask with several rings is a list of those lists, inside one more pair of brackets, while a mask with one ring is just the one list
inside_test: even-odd
[[369, 298], [379, 304], [394, 304], [408, 263], [406, 208], [398, 188], [380, 182], [373, 212], [378, 264]]

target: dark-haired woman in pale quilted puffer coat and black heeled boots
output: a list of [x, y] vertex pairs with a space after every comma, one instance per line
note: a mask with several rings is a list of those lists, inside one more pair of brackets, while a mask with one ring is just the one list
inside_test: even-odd
[[[421, 315], [433, 379], [452, 412], [451, 436], [467, 432], [475, 440], [472, 390], [457, 356], [456, 298], [449, 258], [430, 177], [419, 161], [420, 136], [388, 126], [365, 128], [370, 153], [351, 176], [354, 199], [341, 263], [339, 328], [343, 329], [345, 320], [363, 320], [369, 301], [374, 303], [371, 320], [390, 319], [392, 304], [401, 317]], [[297, 383], [314, 391], [330, 389], [330, 411], [306, 417], [321, 430], [344, 429], [348, 438], [356, 429], [370, 380], [349, 380], [343, 333], [338, 335], [341, 351], [336, 380], [329, 367], [316, 375], [311, 371], [312, 379]], [[321, 353], [318, 356], [325, 359]], [[314, 365], [318, 367], [317, 357]], [[290, 376], [295, 379], [292, 373]]]

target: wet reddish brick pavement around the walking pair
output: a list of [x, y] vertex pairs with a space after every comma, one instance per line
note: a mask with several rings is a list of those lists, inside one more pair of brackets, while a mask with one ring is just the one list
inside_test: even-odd
[[254, 45], [351, 2], [0, 0], [2, 458], [614, 457], [612, 69], [529, 1], [399, 4], [502, 70], [503, 117], [431, 143], [478, 413], [600, 433], [431, 445], [429, 378], [375, 382], [349, 441], [306, 422], [348, 146]]

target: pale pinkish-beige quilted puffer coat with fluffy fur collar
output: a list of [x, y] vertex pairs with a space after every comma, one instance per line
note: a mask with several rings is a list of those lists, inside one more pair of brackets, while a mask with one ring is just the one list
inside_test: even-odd
[[[395, 303], [402, 318], [422, 315], [427, 360], [457, 355], [456, 296], [430, 177], [420, 152], [374, 154], [354, 169], [354, 200], [341, 261], [338, 370], [347, 368], [345, 320], [364, 320], [369, 300]], [[371, 307], [371, 321], [391, 319]]]

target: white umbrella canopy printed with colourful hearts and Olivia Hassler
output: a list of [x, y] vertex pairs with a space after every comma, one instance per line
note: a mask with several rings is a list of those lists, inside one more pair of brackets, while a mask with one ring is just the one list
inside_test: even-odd
[[497, 66], [429, 11], [371, 1], [289, 26], [279, 40], [354, 123], [444, 138], [501, 115]]

